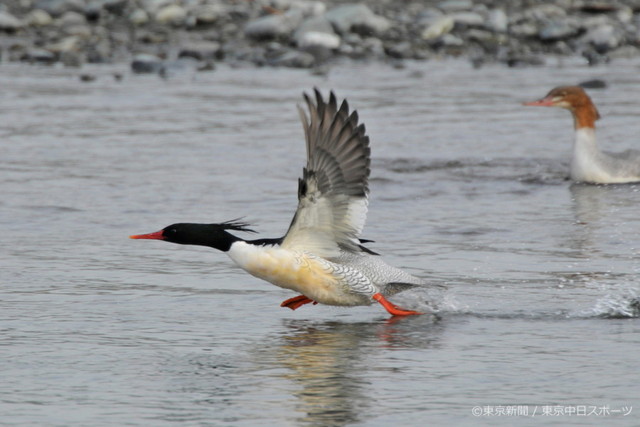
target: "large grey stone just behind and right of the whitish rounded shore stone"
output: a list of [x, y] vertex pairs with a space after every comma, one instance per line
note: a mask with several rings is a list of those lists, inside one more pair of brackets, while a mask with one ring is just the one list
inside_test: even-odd
[[391, 23], [387, 18], [378, 16], [364, 4], [344, 4], [325, 13], [340, 34], [357, 32], [364, 35], [385, 33]]

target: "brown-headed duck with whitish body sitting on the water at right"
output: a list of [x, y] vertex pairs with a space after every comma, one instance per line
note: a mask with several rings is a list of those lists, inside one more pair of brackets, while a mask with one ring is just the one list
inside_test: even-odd
[[600, 113], [580, 86], [559, 86], [544, 98], [525, 102], [537, 107], [560, 107], [573, 115], [575, 136], [570, 178], [585, 184], [625, 184], [640, 181], [640, 151], [601, 151], [596, 141], [595, 122]]

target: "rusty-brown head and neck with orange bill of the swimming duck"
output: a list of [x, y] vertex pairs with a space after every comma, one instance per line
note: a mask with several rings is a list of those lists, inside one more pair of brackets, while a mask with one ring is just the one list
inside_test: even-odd
[[524, 105], [565, 108], [573, 114], [576, 129], [594, 128], [595, 121], [600, 118], [598, 109], [580, 86], [558, 86], [551, 89], [544, 98]]

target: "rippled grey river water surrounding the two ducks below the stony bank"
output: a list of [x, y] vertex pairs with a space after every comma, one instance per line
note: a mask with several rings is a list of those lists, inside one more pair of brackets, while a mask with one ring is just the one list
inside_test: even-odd
[[[603, 79], [601, 146], [640, 148], [639, 65], [102, 66], [84, 83], [2, 64], [0, 424], [638, 425], [640, 186], [572, 185], [570, 115], [521, 103]], [[282, 235], [313, 87], [366, 123], [363, 237], [446, 286], [437, 315], [293, 312], [223, 253], [127, 238], [238, 217]]]

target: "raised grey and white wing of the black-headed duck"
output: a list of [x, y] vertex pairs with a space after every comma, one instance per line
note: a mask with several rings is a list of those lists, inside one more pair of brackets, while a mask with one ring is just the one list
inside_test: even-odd
[[371, 150], [364, 124], [338, 108], [333, 92], [328, 102], [315, 89], [316, 102], [304, 100], [309, 116], [298, 107], [307, 143], [307, 166], [298, 183], [298, 209], [282, 247], [330, 258], [340, 251], [359, 252], [358, 236], [367, 217]]

